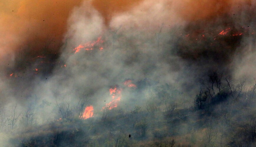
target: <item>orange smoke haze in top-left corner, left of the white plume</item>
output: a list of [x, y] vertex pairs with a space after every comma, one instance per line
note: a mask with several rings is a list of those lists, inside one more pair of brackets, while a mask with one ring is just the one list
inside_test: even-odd
[[74, 6], [79, 6], [80, 3], [81, 0], [1, 2], [0, 33], [1, 41], [5, 41], [0, 43], [1, 52], [4, 51], [3, 48], [33, 52], [58, 50], [66, 32], [69, 14]]

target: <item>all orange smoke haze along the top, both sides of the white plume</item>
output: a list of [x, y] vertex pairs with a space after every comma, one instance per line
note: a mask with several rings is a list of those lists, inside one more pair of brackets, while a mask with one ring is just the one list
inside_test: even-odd
[[[83, 0], [1, 0], [0, 3], [0, 56], [11, 50], [28, 50], [39, 54], [38, 50], [58, 52], [67, 31], [67, 19], [75, 6]], [[86, 0], [88, 1], [88, 0]], [[132, 10], [142, 3], [152, 0], [92, 0], [92, 6], [104, 17], [105, 24], [119, 13]], [[234, 4], [251, 4], [251, 0], [159, 0], [165, 8], [175, 12], [186, 21], [215, 18], [229, 13]], [[161, 13], [161, 12], [160, 12]], [[170, 18], [173, 13], [170, 13]], [[152, 18], [153, 19], [153, 18]], [[4, 41], [3, 41], [4, 40]]]

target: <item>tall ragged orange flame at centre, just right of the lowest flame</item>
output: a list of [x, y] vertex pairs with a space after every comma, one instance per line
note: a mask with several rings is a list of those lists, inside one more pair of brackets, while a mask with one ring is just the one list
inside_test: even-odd
[[102, 109], [113, 109], [117, 107], [118, 102], [121, 100], [121, 89], [116, 88], [110, 88], [109, 89], [110, 95], [112, 96], [112, 101], [107, 103], [105, 107], [102, 107]]

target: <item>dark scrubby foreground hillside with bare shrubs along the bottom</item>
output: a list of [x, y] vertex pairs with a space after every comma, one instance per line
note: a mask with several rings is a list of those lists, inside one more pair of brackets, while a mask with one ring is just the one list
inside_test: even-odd
[[1, 131], [18, 130], [10, 139], [13, 146], [255, 146], [256, 81], [247, 83], [209, 72], [190, 104], [178, 101], [185, 95], [175, 87], [150, 83], [154, 88], [144, 105], [105, 109], [97, 112], [102, 117], [86, 120], [81, 110], [88, 95], [82, 93], [74, 107], [56, 99], [56, 119], [43, 125], [37, 124], [33, 104], [24, 112], [12, 106], [9, 117], [1, 107]]

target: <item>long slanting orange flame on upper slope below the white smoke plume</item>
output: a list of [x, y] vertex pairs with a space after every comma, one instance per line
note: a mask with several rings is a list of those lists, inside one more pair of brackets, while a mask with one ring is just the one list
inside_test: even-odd
[[[94, 45], [99, 45], [100, 43], [103, 43], [104, 41], [101, 40], [101, 37], [99, 37], [96, 41], [90, 41], [90, 42], [87, 42], [85, 44], [80, 44], [78, 45], [74, 51], [75, 53], [78, 53], [81, 49], [82, 50], [93, 50], [94, 49]], [[99, 50], [103, 50], [102, 47], [99, 47]]]

